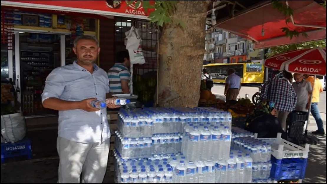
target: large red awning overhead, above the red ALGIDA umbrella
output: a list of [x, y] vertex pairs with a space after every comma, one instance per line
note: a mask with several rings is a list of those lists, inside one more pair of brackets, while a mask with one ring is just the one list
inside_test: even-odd
[[[296, 24], [326, 27], [326, 10], [315, 1], [288, 1], [288, 4], [294, 10], [293, 18]], [[255, 49], [326, 39], [326, 29], [296, 26], [292, 23], [286, 25], [284, 14], [274, 9], [271, 4], [217, 23], [215, 27], [253, 40], [256, 42]], [[307, 32], [308, 38], [299, 36], [290, 40], [285, 37], [282, 27]]]

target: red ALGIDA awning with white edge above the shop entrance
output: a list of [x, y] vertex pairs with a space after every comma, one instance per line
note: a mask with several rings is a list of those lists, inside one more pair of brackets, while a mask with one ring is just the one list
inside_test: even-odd
[[[154, 3], [154, 1], [150, 1]], [[58, 13], [78, 12], [99, 15], [122, 16], [129, 18], [148, 19], [154, 9], [145, 9], [142, 2], [135, 8], [134, 3], [127, 5], [127, 1], [113, 5], [113, 1], [1, 1], [1, 6], [36, 8], [56, 10]]]

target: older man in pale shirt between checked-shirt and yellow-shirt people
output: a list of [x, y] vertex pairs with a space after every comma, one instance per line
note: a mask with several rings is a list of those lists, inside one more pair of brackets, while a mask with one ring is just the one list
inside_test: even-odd
[[298, 95], [295, 110], [307, 111], [309, 109], [310, 95], [312, 94], [312, 86], [310, 82], [304, 80], [302, 74], [294, 74], [295, 82], [292, 86]]

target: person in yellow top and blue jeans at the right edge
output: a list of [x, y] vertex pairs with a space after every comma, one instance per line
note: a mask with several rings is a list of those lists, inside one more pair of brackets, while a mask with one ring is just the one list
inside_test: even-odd
[[[307, 76], [307, 75], [306, 75]], [[306, 78], [306, 81], [311, 83], [312, 86], [312, 100], [311, 100], [311, 109], [310, 112], [312, 116], [315, 118], [318, 130], [312, 132], [316, 135], [324, 135], [324, 125], [320, 116], [320, 112], [318, 109], [318, 102], [320, 101], [320, 93], [323, 92], [321, 81], [316, 78], [314, 75], [309, 75]], [[313, 82], [315, 81], [315, 86], [313, 86]]]

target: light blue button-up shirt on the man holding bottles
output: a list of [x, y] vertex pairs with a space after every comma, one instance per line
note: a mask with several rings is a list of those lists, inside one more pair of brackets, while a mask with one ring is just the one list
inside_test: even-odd
[[[109, 92], [107, 73], [94, 64], [91, 74], [73, 64], [54, 69], [46, 78], [42, 102], [50, 97], [66, 101], [97, 98], [105, 101]], [[87, 112], [82, 109], [59, 111], [58, 136], [74, 142], [103, 142], [110, 138], [107, 110]]]

